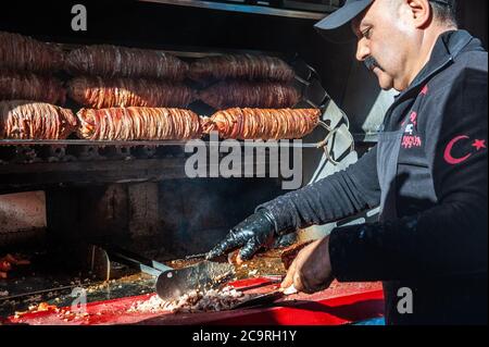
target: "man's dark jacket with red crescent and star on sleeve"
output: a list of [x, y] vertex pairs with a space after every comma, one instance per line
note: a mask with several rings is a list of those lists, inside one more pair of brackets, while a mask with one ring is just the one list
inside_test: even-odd
[[[444, 33], [376, 147], [259, 207], [280, 232], [380, 206], [379, 222], [333, 231], [329, 251], [339, 281], [384, 282], [389, 324], [487, 324], [487, 70], [478, 39]], [[404, 287], [413, 313], [398, 310]]]

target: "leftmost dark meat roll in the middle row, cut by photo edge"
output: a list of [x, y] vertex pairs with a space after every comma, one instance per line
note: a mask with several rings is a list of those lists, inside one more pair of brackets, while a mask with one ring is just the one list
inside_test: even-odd
[[35, 74], [0, 74], [0, 100], [33, 100], [62, 106], [66, 91], [61, 80]]

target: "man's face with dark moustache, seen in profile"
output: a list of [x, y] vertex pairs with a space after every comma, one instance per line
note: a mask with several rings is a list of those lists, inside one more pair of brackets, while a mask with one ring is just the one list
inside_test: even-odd
[[411, 82], [416, 29], [410, 22], [410, 8], [402, 0], [375, 0], [352, 22], [358, 37], [356, 59], [377, 76], [380, 88], [408, 88]]

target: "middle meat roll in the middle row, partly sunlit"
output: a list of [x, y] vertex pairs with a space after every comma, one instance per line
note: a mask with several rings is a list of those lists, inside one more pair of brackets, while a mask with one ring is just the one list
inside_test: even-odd
[[165, 107], [185, 108], [193, 90], [184, 84], [149, 79], [79, 77], [68, 84], [70, 97], [88, 108]]

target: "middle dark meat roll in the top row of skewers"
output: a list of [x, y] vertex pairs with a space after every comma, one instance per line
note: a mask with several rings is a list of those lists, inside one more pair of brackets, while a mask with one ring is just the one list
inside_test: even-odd
[[183, 80], [187, 75], [188, 64], [161, 51], [95, 45], [71, 51], [66, 55], [65, 69], [74, 76]]

